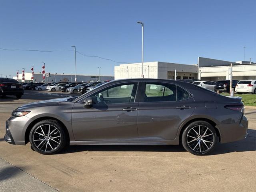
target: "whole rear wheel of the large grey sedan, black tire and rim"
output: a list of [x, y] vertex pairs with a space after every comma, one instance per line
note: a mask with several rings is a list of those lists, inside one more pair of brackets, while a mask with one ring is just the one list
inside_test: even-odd
[[205, 121], [190, 123], [182, 133], [182, 146], [194, 155], [209, 154], [217, 143], [216, 130]]

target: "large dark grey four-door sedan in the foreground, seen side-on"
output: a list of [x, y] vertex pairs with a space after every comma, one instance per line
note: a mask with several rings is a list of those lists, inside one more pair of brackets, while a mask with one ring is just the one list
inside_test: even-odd
[[248, 120], [241, 99], [182, 81], [114, 80], [80, 97], [17, 108], [6, 121], [4, 140], [30, 142], [41, 154], [58, 153], [66, 144], [182, 143], [188, 152], [205, 155], [219, 141], [246, 138]]

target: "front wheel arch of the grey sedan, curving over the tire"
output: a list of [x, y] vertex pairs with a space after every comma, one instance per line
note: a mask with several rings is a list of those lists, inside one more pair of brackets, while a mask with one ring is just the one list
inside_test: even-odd
[[59, 119], [54, 118], [54, 117], [49, 117], [49, 116], [37, 118], [29, 124], [29, 126], [27, 127], [26, 132], [25, 132], [25, 144], [27, 144], [29, 142], [29, 134], [30, 134], [30, 131], [33, 128], [33, 126], [35, 124], [37, 124], [38, 122], [42, 121], [42, 120], [56, 120], [56, 121], [58, 121], [62, 125], [62, 128], [64, 129], [64, 132], [67, 136], [67, 144], [69, 144], [70, 135], [68, 133], [68, 129], [66, 128], [65, 124], [62, 121], [60, 121]]

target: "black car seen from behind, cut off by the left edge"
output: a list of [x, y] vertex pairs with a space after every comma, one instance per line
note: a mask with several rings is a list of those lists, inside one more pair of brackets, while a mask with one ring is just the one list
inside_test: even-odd
[[23, 93], [23, 86], [17, 80], [0, 78], [0, 96], [15, 95], [19, 99]]

